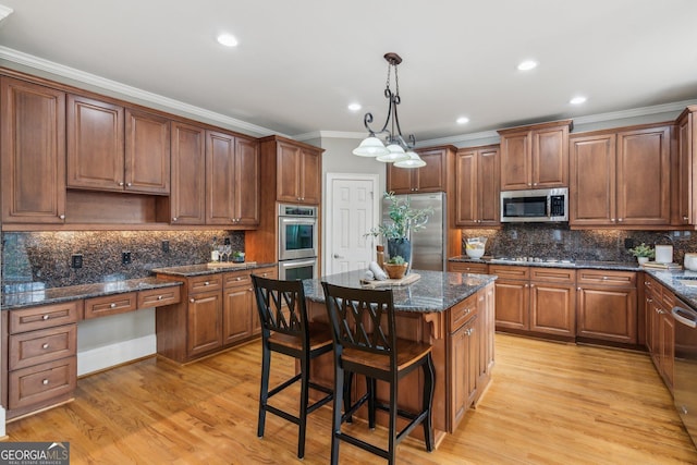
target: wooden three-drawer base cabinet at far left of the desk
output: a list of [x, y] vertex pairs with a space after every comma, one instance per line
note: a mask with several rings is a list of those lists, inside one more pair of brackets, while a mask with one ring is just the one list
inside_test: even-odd
[[[8, 418], [59, 405], [77, 384], [77, 320], [82, 301], [8, 311]], [[4, 365], [4, 363], [3, 363]]]

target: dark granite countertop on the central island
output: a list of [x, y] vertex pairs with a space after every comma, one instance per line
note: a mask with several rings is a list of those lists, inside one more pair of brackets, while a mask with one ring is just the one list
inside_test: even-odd
[[[463, 274], [441, 271], [412, 270], [420, 279], [404, 286], [393, 286], [394, 307], [402, 311], [443, 311], [469, 297], [497, 279], [490, 274]], [[359, 289], [365, 270], [331, 274], [303, 281], [305, 296], [313, 302], [325, 302], [321, 281]]]

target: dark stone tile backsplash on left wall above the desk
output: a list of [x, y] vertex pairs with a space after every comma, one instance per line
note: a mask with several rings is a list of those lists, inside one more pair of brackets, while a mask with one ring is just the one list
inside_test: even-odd
[[[233, 250], [244, 252], [239, 231], [80, 231], [2, 233], [2, 289], [11, 292], [144, 278], [150, 269], [210, 260], [213, 237], [230, 236]], [[169, 252], [162, 250], [162, 242]], [[122, 265], [122, 253], [131, 264]], [[73, 254], [83, 267], [71, 268]]]

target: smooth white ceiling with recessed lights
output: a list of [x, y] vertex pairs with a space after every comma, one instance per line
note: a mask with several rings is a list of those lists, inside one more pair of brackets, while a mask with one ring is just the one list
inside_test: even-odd
[[[5, 63], [48, 60], [290, 136], [364, 134], [366, 111], [381, 125], [388, 51], [420, 140], [697, 99], [695, 0], [0, 3]], [[517, 71], [524, 59], [539, 66]]]

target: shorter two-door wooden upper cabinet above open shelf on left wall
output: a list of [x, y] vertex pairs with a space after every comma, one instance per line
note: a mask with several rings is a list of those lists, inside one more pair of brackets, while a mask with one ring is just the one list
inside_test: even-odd
[[68, 96], [68, 187], [169, 194], [169, 120]]

